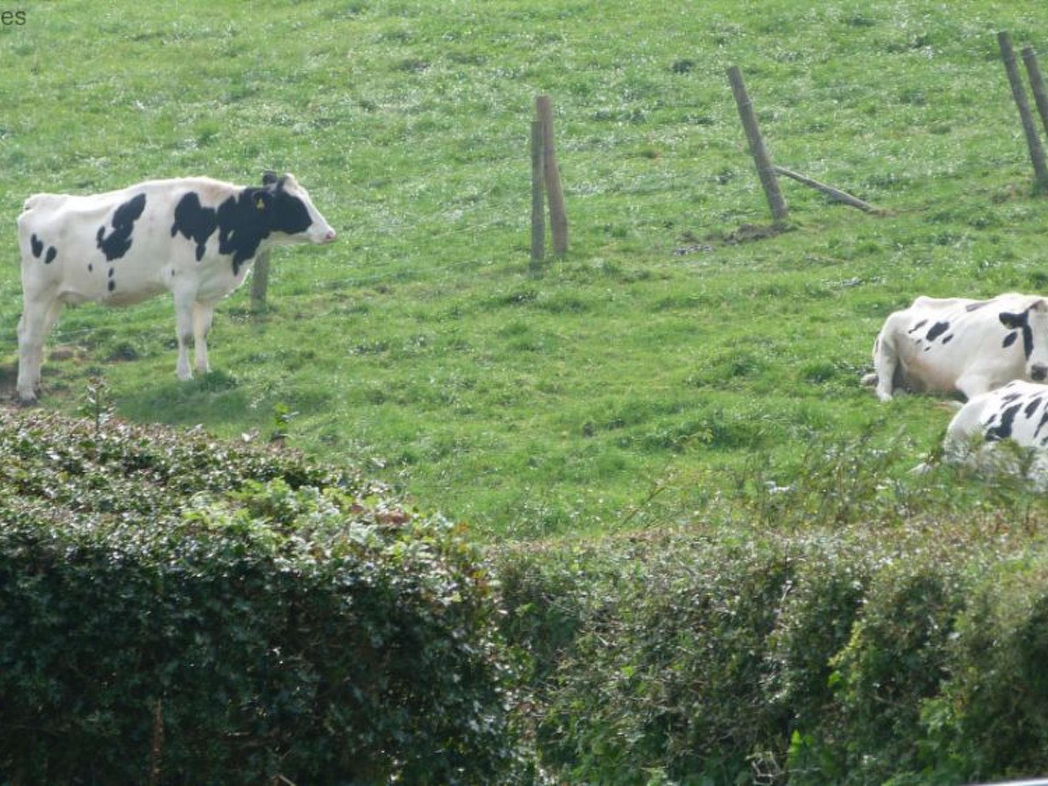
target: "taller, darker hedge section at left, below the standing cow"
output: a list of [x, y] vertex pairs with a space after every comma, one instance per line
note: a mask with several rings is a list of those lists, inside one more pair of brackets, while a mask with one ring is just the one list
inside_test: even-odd
[[0, 783], [493, 783], [476, 552], [282, 453], [0, 411]]

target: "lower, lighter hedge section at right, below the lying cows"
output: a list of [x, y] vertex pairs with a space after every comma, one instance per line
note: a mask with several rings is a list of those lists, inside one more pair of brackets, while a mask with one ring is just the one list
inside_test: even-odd
[[937, 527], [682, 529], [500, 554], [543, 766], [593, 784], [1048, 771], [1048, 548]]

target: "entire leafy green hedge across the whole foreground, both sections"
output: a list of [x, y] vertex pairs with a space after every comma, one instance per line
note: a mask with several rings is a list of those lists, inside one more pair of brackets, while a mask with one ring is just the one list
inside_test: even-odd
[[1048, 772], [1048, 501], [887, 462], [481, 559], [293, 454], [0, 410], [0, 784]]

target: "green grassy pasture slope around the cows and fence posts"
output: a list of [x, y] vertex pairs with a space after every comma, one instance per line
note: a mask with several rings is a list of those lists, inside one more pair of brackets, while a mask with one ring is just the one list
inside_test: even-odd
[[[69, 309], [41, 406], [101, 377], [125, 417], [274, 431], [485, 538], [701, 516], [732, 474], [787, 484], [813, 443], [892, 446], [949, 413], [859, 386], [917, 294], [1048, 289], [1048, 201], [997, 49], [1020, 2], [37, 2], [0, 30], [0, 376], [14, 219], [37, 191], [293, 172], [341, 240], [280, 249], [271, 311], [222, 303], [205, 378], [170, 299]], [[784, 182], [769, 221], [725, 69]], [[552, 96], [571, 248], [528, 269], [532, 102]], [[758, 233], [760, 234], [760, 233]]]

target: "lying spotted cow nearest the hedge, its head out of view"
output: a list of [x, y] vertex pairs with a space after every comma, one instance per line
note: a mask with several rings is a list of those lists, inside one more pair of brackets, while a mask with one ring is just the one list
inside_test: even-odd
[[[1006, 440], [1019, 450], [1002, 451]], [[1048, 385], [1014, 380], [975, 396], [946, 428], [943, 457], [979, 470], [1022, 473], [1043, 487], [1048, 481]]]

